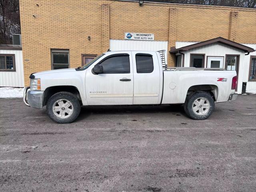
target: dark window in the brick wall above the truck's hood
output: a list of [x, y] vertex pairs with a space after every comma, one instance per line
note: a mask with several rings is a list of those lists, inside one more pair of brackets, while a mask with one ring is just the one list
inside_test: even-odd
[[52, 69], [69, 68], [69, 50], [52, 49]]

